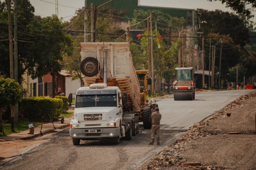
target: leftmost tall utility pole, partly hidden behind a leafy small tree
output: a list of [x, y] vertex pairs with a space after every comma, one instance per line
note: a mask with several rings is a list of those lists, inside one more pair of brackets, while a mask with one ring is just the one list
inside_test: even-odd
[[[7, 0], [8, 8], [8, 32], [9, 32], [9, 54], [10, 54], [10, 78], [14, 79], [13, 74], [13, 49], [12, 49], [12, 20], [11, 20], [11, 0]], [[11, 131], [14, 132], [14, 106], [11, 106]]]

